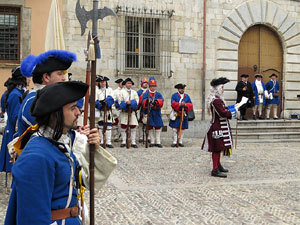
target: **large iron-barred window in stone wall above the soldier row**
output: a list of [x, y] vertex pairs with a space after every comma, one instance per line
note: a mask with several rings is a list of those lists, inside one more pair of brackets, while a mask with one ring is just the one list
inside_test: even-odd
[[169, 74], [173, 11], [117, 8], [119, 75]]

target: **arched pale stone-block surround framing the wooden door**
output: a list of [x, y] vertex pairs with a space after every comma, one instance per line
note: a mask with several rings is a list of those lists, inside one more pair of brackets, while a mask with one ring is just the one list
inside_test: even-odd
[[245, 31], [254, 25], [268, 26], [277, 33], [282, 44], [282, 95], [284, 118], [300, 113], [300, 24], [280, 5], [267, 0], [247, 1], [232, 10], [221, 25], [217, 39], [217, 77], [226, 76], [231, 81], [226, 88], [225, 98], [233, 104], [238, 73], [238, 47]]

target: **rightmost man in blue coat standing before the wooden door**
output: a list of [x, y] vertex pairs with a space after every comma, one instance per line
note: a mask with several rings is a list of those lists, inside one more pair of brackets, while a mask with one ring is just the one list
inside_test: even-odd
[[277, 75], [275, 73], [270, 75], [271, 80], [266, 83], [266, 88], [268, 90], [269, 99], [267, 100], [267, 115], [266, 119], [270, 119], [271, 108], [273, 107], [273, 118], [278, 119], [277, 116], [277, 106], [280, 105], [279, 99], [279, 82], [276, 80]]

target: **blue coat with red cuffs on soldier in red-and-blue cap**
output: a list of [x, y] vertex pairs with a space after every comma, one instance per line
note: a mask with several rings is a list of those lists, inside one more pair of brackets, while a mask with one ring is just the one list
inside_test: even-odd
[[[143, 106], [145, 106], [144, 103], [146, 103], [146, 101], [148, 100], [148, 95], [149, 95], [149, 91], [146, 91], [145, 94], [143, 95], [143, 99], [142, 99]], [[158, 107], [156, 108], [150, 107], [149, 125], [152, 127], [163, 127], [164, 123], [161, 118], [161, 107], [163, 106], [164, 98], [161, 95], [161, 93], [155, 92], [154, 98], [152, 98], [151, 95], [149, 96], [150, 104], [155, 102], [156, 100], [158, 102], [157, 104]], [[146, 107], [143, 107], [143, 109], [144, 109], [144, 116], [147, 116], [148, 109]]]

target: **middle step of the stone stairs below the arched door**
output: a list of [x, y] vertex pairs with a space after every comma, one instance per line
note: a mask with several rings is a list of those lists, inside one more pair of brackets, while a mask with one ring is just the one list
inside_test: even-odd
[[[235, 132], [236, 127], [231, 127], [232, 132]], [[300, 126], [238, 126], [238, 132], [300, 132]]]

